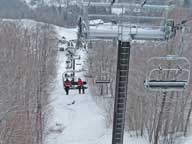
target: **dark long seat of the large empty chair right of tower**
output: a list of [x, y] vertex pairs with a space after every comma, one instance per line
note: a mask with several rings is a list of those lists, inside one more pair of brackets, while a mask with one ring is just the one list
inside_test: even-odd
[[151, 89], [185, 89], [188, 82], [178, 80], [149, 80], [144, 82]]

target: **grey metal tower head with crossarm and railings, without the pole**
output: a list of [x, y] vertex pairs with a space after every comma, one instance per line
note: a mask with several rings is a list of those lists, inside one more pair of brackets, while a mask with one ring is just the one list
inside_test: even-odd
[[[120, 34], [123, 39], [128, 39], [130, 36], [135, 40], [166, 40], [169, 38], [168, 36], [172, 33], [171, 29], [173, 25], [164, 24], [163, 26], [148, 26], [150, 29], [142, 28], [140, 26], [136, 26], [137, 29], [132, 27], [133, 24], [137, 23], [137, 19], [141, 19], [143, 21], [156, 21], [160, 23], [162, 20], [166, 22], [167, 17], [164, 15], [161, 16], [146, 16], [146, 15], [129, 15], [129, 13], [125, 13], [125, 9], [129, 9], [130, 7], [135, 8], [134, 10], [141, 9], [141, 6], [138, 4], [130, 4], [130, 3], [122, 3], [116, 2], [113, 5], [113, 9], [116, 9], [120, 12], [120, 14], [115, 13], [106, 13], [104, 9], [108, 9], [111, 4], [108, 2], [83, 2], [82, 9], [84, 11], [83, 17], [79, 19], [79, 36], [85, 39], [90, 40], [98, 40], [98, 39], [118, 39]], [[95, 11], [93, 10], [96, 9]], [[144, 9], [151, 10], [162, 10], [168, 11], [172, 6], [166, 5], [145, 5]], [[102, 9], [102, 10], [97, 10]], [[104, 23], [94, 26], [92, 23], [95, 21], [103, 21]], [[111, 22], [115, 22], [117, 24], [113, 24]], [[150, 25], [150, 24], [149, 24]], [[123, 27], [123, 28], [122, 28]], [[121, 30], [119, 30], [121, 29]], [[162, 31], [163, 29], [163, 31]], [[135, 33], [136, 31], [136, 33]]]

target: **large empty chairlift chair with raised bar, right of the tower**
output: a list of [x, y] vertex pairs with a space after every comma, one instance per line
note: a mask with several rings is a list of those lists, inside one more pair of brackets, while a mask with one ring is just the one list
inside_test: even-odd
[[144, 86], [150, 91], [183, 91], [189, 85], [190, 62], [185, 57], [152, 57], [146, 71]]

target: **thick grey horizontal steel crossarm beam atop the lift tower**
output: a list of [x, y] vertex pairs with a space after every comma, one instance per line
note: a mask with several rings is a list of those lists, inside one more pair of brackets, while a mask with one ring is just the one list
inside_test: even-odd
[[[122, 30], [121, 30], [122, 29]], [[137, 25], [102, 24], [90, 26], [84, 31], [88, 39], [114, 39], [122, 35], [123, 39], [132, 40], [166, 40], [171, 33], [171, 27], [138, 27]]]

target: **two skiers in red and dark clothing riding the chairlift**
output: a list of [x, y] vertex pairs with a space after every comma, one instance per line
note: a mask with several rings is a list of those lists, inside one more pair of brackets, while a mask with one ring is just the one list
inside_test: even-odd
[[[74, 83], [75, 83], [74, 79], [72, 79], [71, 81], [69, 81], [69, 79], [66, 79], [66, 81], [64, 81], [64, 89], [65, 89], [66, 95], [69, 94], [69, 89]], [[78, 81], [77, 81], [77, 88], [78, 88], [79, 94], [81, 94], [81, 90], [83, 94], [85, 93], [84, 83], [80, 78], [78, 78]]]

